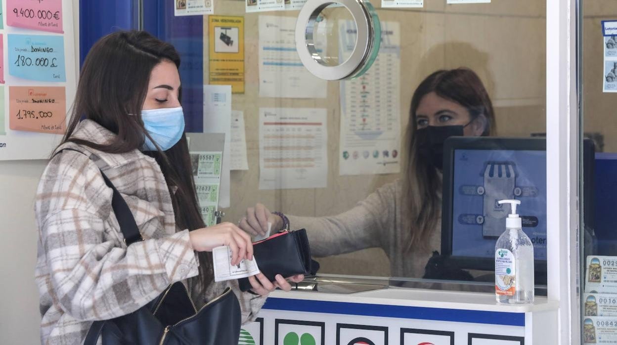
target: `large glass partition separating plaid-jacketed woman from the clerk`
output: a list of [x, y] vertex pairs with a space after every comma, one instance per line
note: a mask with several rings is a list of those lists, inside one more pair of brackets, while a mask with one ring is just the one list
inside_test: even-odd
[[[509, 212], [495, 201], [520, 199], [524, 230], [545, 259], [544, 1], [372, 2], [379, 54], [346, 81], [321, 80], [302, 65], [297, 9], [247, 13], [254, 7], [244, 1], [217, 0], [215, 15], [175, 17], [164, 3], [144, 8], [144, 28], [182, 54], [187, 130], [209, 131], [212, 85], [233, 85], [233, 121], [244, 122], [235, 128], [246, 147], [226, 141], [236, 154], [246, 149], [247, 169], [231, 170], [223, 220], [241, 223], [257, 204], [282, 212], [292, 230], [307, 229], [327, 279], [442, 288], [435, 282], [454, 280], [490, 291]], [[349, 10], [331, 5], [315, 21], [318, 57], [341, 64], [357, 41]], [[488, 139], [444, 143], [450, 136]], [[224, 181], [220, 188], [223, 198]], [[282, 218], [271, 219], [277, 231]]]

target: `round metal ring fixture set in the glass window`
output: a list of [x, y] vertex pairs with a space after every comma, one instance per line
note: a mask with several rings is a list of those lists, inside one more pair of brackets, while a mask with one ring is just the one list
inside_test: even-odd
[[[339, 65], [326, 61], [315, 47], [320, 13], [330, 5], [342, 5], [355, 22], [357, 38], [349, 57]], [[307, 0], [296, 22], [296, 50], [304, 67], [324, 80], [360, 77], [375, 61], [381, 44], [381, 24], [373, 6], [364, 0]]]

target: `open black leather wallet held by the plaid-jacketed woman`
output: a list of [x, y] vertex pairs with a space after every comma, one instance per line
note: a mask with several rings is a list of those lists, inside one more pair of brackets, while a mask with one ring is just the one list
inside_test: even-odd
[[[284, 277], [292, 275], [310, 275], [317, 272], [310, 257], [307, 231], [281, 231], [253, 243], [253, 256], [257, 260], [259, 270], [268, 280], [274, 281], [280, 274]], [[241, 291], [249, 291], [249, 278], [238, 280]]]

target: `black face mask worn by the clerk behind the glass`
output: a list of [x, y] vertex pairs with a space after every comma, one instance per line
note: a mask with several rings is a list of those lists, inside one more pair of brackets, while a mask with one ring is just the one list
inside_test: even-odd
[[416, 131], [418, 154], [426, 162], [444, 169], [444, 141], [450, 136], [463, 136], [465, 126], [428, 126]]

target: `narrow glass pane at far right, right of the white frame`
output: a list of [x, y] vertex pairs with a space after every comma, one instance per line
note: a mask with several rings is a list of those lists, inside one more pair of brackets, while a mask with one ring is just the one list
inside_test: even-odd
[[[581, 1], [579, 15], [579, 143], [582, 343], [615, 343], [617, 122], [613, 116], [617, 4]], [[603, 30], [606, 29], [606, 30]], [[611, 30], [613, 30], [611, 32]], [[607, 334], [607, 330], [610, 332]], [[602, 340], [600, 340], [602, 339]]]

